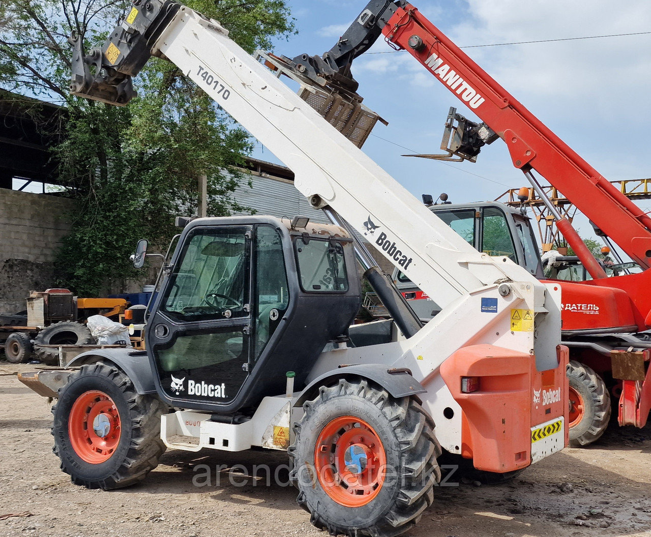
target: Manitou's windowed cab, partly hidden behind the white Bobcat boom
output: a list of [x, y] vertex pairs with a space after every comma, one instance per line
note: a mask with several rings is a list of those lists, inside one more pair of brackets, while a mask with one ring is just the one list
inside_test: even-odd
[[[536, 278], [543, 278], [538, 245], [527, 215], [499, 202], [452, 205], [445, 202], [447, 196], [444, 199], [441, 195], [441, 199], [442, 204], [431, 205], [429, 209], [475, 249], [490, 256], [506, 256]], [[441, 311], [398, 269], [393, 271], [393, 281], [422, 321]]]

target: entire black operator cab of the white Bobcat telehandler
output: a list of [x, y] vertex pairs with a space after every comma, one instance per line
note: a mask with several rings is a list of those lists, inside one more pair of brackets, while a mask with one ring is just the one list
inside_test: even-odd
[[186, 226], [146, 324], [167, 404], [245, 412], [283, 393], [288, 372], [302, 389], [326, 344], [346, 334], [361, 303], [352, 239], [337, 226], [297, 222]]

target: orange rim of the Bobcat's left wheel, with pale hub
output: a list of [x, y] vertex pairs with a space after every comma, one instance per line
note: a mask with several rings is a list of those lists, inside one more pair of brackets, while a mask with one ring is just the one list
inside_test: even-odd
[[109, 460], [121, 432], [120, 413], [107, 394], [91, 390], [77, 397], [68, 417], [68, 435], [81, 460], [90, 464]]

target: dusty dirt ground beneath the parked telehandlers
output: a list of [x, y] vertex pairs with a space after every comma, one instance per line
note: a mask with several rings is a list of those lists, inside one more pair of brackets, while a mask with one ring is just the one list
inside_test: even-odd
[[[286, 480], [281, 452], [168, 450], [139, 486], [105, 492], [72, 485], [51, 452], [49, 404], [15, 376], [34, 367], [0, 362], [1, 536], [326, 535], [296, 505], [294, 488], [267, 486], [264, 474], [247, 477], [266, 462]], [[193, 485], [193, 478], [204, 482], [200, 465], [212, 469], [210, 486]], [[219, 465], [222, 477], [243, 465], [234, 479], [243, 486], [228, 478], [217, 484]], [[436, 502], [406, 535], [651, 536], [651, 426], [611, 426], [595, 445], [566, 449], [505, 485], [437, 488]]]

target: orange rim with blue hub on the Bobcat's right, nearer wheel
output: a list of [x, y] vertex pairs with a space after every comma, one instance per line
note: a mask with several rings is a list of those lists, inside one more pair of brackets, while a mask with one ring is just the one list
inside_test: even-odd
[[326, 494], [346, 507], [372, 501], [382, 488], [387, 456], [378, 434], [364, 420], [341, 416], [316, 439], [314, 469]]

